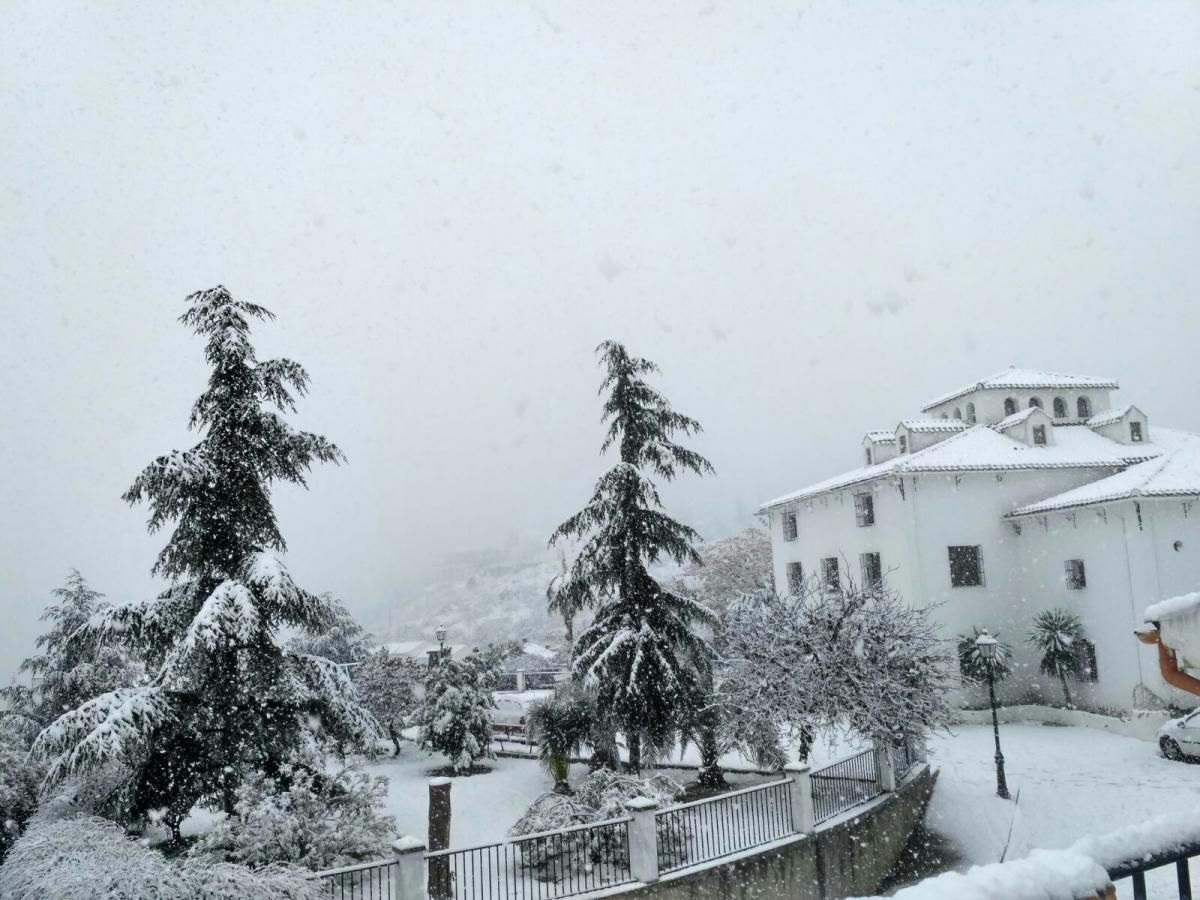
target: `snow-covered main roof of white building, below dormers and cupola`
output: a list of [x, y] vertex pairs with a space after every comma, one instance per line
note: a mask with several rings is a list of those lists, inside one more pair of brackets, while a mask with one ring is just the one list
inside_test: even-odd
[[1110, 440], [1091, 428], [1069, 425], [1051, 427], [1054, 427], [1054, 443], [1034, 448], [988, 425], [974, 425], [914, 454], [901, 454], [875, 466], [863, 466], [776, 497], [762, 504], [760, 512], [865, 481], [919, 472], [1124, 468], [1159, 456], [1174, 448], [1180, 438], [1188, 437], [1168, 428], [1156, 428], [1153, 442], [1147, 440], [1135, 448]]

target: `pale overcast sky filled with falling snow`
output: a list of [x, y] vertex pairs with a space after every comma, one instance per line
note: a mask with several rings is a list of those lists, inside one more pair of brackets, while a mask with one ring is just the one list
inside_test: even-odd
[[154, 589], [119, 499], [194, 440], [224, 283], [347, 467], [289, 564], [377, 608], [545, 536], [601, 467], [592, 348], [706, 426], [709, 530], [1018, 365], [1200, 430], [1195, 2], [0, 7], [0, 678], [70, 566]]

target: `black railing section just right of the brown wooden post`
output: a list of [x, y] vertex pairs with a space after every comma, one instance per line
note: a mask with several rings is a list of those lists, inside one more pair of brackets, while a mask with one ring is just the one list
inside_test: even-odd
[[629, 884], [629, 818], [426, 854], [433, 900], [553, 900]]

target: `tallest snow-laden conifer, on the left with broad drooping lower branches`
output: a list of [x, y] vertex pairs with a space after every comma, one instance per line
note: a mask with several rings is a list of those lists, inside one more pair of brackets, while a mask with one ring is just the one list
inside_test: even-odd
[[296, 431], [308, 376], [286, 360], [258, 361], [250, 319], [271, 318], [223, 287], [192, 294], [181, 317], [205, 340], [211, 374], [192, 408], [203, 434], [160, 456], [125, 494], [145, 500], [149, 528], [174, 523], [154, 574], [156, 599], [100, 610], [82, 636], [137, 654], [145, 684], [86, 701], [52, 722], [34, 752], [50, 784], [118, 761], [132, 773], [134, 814], [151, 810], [179, 840], [196, 803], [233, 811], [247, 774], [275, 774], [314, 739], [372, 751], [379, 731], [344, 672], [320, 656], [286, 652], [282, 629], [320, 634], [336, 610], [304, 590], [271, 554], [286, 550], [271, 506], [275, 482], [305, 485], [314, 462], [341, 451]]

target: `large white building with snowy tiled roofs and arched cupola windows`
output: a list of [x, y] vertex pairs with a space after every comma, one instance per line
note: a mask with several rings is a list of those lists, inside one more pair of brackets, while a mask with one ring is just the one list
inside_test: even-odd
[[1200, 436], [1114, 407], [1109, 378], [1010, 368], [863, 438], [859, 468], [770, 500], [775, 583], [886, 577], [936, 605], [948, 640], [998, 632], [1018, 670], [1008, 700], [1061, 691], [1026, 646], [1063, 607], [1093, 642], [1080, 702], [1192, 706], [1133, 630], [1158, 599], [1200, 588]]

